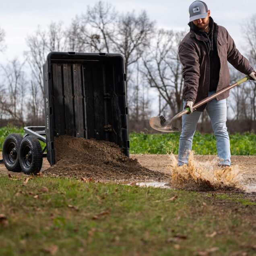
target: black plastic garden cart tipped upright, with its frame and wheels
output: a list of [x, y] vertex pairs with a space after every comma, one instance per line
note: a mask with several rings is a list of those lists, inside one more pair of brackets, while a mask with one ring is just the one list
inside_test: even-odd
[[[120, 54], [48, 54], [43, 65], [45, 126], [28, 126], [24, 136], [6, 137], [6, 168], [35, 174], [43, 157], [54, 165], [54, 137], [61, 135], [115, 142], [129, 157], [125, 81]], [[43, 150], [39, 140], [46, 143]]]

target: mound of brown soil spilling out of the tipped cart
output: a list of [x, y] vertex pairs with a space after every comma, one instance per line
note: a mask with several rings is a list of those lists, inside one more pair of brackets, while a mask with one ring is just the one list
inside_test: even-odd
[[45, 174], [94, 180], [163, 180], [165, 175], [142, 167], [113, 142], [60, 136], [54, 138], [56, 164]]

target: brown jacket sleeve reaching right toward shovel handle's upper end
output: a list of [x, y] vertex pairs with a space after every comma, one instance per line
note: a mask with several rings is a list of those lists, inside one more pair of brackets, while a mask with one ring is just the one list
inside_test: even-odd
[[240, 72], [249, 75], [253, 72], [249, 61], [237, 50], [233, 38], [227, 32], [227, 60]]

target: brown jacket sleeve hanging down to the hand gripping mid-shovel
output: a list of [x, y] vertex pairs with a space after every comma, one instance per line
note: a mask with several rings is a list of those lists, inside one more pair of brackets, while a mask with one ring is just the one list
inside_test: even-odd
[[183, 97], [185, 101], [196, 101], [200, 78], [199, 56], [193, 45], [182, 43], [179, 45], [179, 57], [183, 65], [184, 78]]

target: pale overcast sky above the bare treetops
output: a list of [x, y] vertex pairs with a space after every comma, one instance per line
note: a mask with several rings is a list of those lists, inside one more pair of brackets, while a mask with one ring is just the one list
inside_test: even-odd
[[[0, 63], [19, 57], [23, 59], [23, 51], [27, 50], [26, 37], [33, 34], [37, 26], [47, 27], [52, 21], [62, 21], [69, 25], [70, 21], [93, 6], [96, 0], [12, 0], [1, 1], [0, 27], [6, 31], [4, 54], [0, 53]], [[188, 6], [192, 1], [182, 0], [109, 0], [119, 12], [146, 10], [157, 27], [165, 29], [184, 29], [188, 27]], [[211, 16], [219, 25], [226, 27], [235, 40], [237, 48], [243, 52], [243, 35], [240, 25], [256, 13], [255, 0], [209, 0], [206, 4]]]

